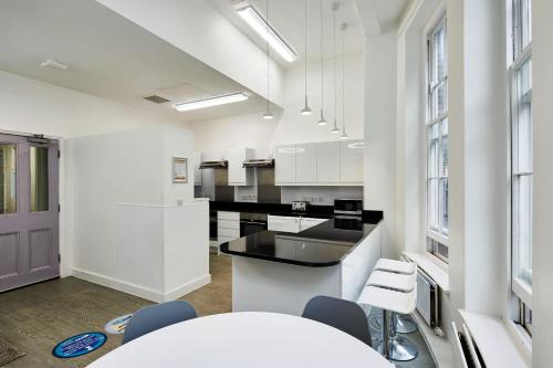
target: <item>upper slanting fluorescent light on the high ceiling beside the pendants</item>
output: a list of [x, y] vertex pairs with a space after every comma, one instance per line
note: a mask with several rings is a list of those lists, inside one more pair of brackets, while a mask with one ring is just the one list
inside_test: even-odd
[[247, 6], [237, 10], [238, 14], [250, 25], [263, 40], [265, 40], [274, 51], [289, 63], [298, 59], [294, 50], [284, 41], [282, 36], [267, 22], [255, 8]]

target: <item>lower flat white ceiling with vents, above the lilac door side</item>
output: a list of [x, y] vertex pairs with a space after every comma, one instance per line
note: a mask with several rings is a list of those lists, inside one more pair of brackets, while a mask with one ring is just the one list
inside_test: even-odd
[[[260, 112], [264, 99], [93, 0], [0, 1], [0, 70], [182, 120]], [[40, 66], [46, 59], [67, 71]], [[241, 91], [247, 102], [178, 113], [173, 102]]]

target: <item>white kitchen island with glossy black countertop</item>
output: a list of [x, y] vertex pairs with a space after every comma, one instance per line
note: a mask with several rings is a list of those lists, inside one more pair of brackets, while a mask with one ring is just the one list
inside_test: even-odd
[[301, 315], [313, 296], [356, 301], [380, 257], [379, 220], [332, 218], [299, 233], [222, 243], [232, 255], [232, 311]]

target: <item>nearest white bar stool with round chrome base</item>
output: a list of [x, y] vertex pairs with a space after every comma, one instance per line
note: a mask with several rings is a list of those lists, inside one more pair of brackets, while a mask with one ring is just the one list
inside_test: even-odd
[[413, 360], [417, 357], [417, 345], [406, 337], [396, 335], [394, 322], [395, 314], [409, 314], [415, 311], [416, 288], [409, 293], [401, 293], [389, 288], [365, 286], [357, 303], [383, 309], [383, 340], [379, 346], [376, 346], [377, 351], [380, 351], [387, 359], [397, 361]]

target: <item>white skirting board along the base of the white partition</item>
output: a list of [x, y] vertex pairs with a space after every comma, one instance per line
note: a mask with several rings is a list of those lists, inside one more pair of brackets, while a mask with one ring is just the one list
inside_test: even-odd
[[127, 283], [127, 282], [122, 282], [118, 280], [114, 280], [112, 277], [106, 277], [104, 275], [98, 275], [96, 273], [83, 271], [83, 270], [79, 270], [79, 269], [73, 269], [72, 274], [73, 274], [73, 276], [75, 276], [77, 278], [88, 281], [91, 283], [106, 286], [109, 288], [114, 288], [114, 290], [123, 292], [123, 293], [127, 293], [131, 295], [143, 297], [145, 299], [156, 302], [156, 303], [163, 303], [163, 302], [177, 299], [177, 298], [179, 298], [179, 297], [181, 297], [190, 292], [194, 292], [195, 290], [197, 290], [204, 285], [207, 285], [211, 282], [211, 275], [207, 274], [205, 276], [192, 280], [192, 281], [164, 294], [164, 293], [160, 293], [158, 291], [154, 291], [152, 288], [134, 285], [134, 284]]

